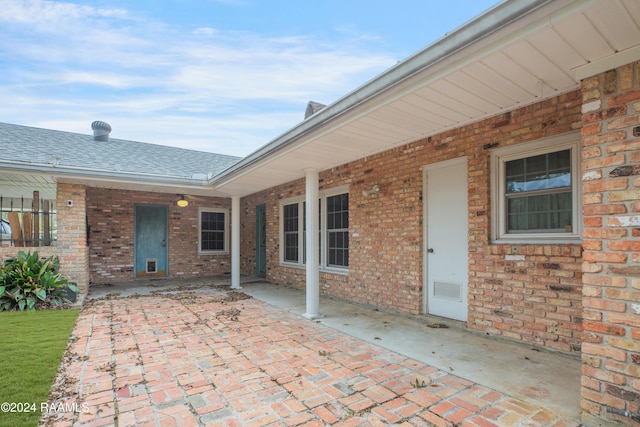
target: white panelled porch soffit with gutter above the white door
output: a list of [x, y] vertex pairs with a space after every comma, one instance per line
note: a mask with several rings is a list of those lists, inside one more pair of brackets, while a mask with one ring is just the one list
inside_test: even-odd
[[575, 90], [580, 70], [639, 45], [637, 0], [501, 3], [214, 180], [252, 194]]

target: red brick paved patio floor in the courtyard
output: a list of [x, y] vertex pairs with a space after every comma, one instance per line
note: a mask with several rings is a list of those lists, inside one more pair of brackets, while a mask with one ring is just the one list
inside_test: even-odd
[[[83, 308], [50, 403], [56, 426], [578, 426], [223, 289]], [[411, 343], [407, 343], [411, 345]]]

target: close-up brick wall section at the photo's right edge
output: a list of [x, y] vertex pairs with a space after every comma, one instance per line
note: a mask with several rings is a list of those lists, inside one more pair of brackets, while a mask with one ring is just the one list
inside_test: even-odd
[[631, 425], [620, 413], [640, 413], [638, 63], [585, 79], [582, 91], [583, 421]]

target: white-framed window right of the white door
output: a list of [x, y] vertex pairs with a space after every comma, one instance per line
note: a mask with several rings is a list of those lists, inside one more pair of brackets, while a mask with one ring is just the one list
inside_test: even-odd
[[579, 141], [563, 135], [491, 153], [494, 241], [579, 239]]

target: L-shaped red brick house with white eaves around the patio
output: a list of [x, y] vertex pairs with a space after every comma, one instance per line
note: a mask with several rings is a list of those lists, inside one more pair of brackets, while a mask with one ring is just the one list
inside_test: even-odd
[[[23, 144], [18, 128], [0, 141]], [[304, 287], [309, 318], [322, 292], [581, 354], [584, 424], [640, 413], [633, 0], [500, 3], [243, 159], [89, 173], [19, 156], [0, 159], [0, 188], [55, 187], [57, 246], [42, 249], [85, 291], [264, 276]]]

